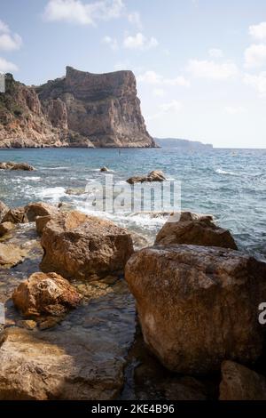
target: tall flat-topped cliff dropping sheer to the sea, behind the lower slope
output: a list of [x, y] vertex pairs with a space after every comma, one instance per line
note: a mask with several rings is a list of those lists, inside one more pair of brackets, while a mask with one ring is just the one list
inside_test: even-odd
[[[37, 87], [36, 92], [43, 109], [49, 108], [51, 100], [60, 100], [66, 106], [70, 132], [95, 147], [154, 146], [131, 71], [96, 75], [67, 67], [65, 77]], [[48, 115], [51, 118], [53, 111]]]

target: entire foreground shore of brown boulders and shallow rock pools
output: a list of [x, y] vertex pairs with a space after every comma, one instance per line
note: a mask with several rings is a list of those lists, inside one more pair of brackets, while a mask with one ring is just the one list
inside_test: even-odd
[[0, 221], [1, 400], [266, 398], [266, 264], [212, 216], [154, 245], [64, 205]]

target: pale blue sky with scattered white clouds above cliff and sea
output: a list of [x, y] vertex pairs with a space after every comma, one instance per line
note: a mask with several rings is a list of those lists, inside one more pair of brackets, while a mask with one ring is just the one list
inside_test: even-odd
[[263, 0], [0, 0], [0, 71], [131, 69], [149, 133], [266, 148]]

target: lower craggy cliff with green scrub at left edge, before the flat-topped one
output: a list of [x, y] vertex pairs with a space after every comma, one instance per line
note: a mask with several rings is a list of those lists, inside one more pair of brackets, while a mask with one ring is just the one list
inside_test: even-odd
[[[50, 109], [52, 106], [53, 100]], [[0, 148], [66, 146], [66, 113], [53, 113], [54, 118], [58, 117], [56, 124], [43, 113], [34, 88], [6, 75], [5, 92], [0, 93]]]

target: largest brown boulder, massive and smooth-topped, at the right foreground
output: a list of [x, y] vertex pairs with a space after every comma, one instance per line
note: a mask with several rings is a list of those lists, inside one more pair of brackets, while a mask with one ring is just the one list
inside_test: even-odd
[[168, 369], [207, 373], [224, 359], [261, 355], [265, 263], [223, 248], [157, 245], [132, 255], [125, 277], [145, 342]]

